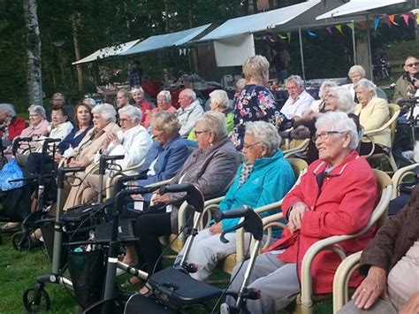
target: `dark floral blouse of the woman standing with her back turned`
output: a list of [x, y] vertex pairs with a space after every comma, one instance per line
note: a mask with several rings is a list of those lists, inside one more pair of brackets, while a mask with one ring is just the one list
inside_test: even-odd
[[246, 85], [234, 102], [232, 143], [241, 151], [248, 122], [265, 121], [276, 126], [276, 118], [280, 116], [275, 97], [268, 88], [254, 84]]

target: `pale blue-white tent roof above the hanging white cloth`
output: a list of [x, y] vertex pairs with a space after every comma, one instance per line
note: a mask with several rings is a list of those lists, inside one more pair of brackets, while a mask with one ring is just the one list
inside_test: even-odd
[[273, 29], [297, 18], [301, 13], [309, 11], [309, 9], [320, 3], [322, 3], [322, 0], [310, 0], [301, 4], [286, 6], [285, 8], [229, 19], [209, 34], [203, 36], [200, 42]]

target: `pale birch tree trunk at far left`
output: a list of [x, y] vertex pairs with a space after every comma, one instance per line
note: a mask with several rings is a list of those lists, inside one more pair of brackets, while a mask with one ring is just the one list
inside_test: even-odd
[[23, 0], [27, 27], [27, 96], [28, 104], [42, 105], [41, 36], [36, 0]]

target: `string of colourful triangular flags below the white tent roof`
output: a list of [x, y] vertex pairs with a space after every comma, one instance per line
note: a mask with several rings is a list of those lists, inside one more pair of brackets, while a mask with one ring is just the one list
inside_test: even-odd
[[[419, 24], [419, 12], [417, 13], [413, 13], [413, 12], [408, 12], [408, 13], [403, 13], [403, 14], [385, 14], [383, 16], [380, 17], [375, 17], [374, 19], [371, 19], [369, 21], [366, 20], [362, 20], [356, 23], [350, 22], [347, 24], [339, 24], [339, 25], [335, 25], [332, 27], [325, 27], [326, 31], [329, 34], [333, 33], [333, 29], [336, 29], [339, 34], [344, 34], [344, 30], [342, 27], [348, 27], [351, 30], [354, 30], [354, 27], [360, 27], [363, 29], [366, 29], [368, 27], [372, 27], [374, 28], [374, 31], [377, 31], [378, 27], [380, 26], [381, 22], [383, 22], [384, 24], [386, 24], [388, 27], [392, 27], [392, 26], [396, 26], [399, 27], [400, 24], [398, 22], [396, 22], [395, 18], [396, 16], [401, 16], [401, 18], [403, 19], [404, 23], [409, 26], [410, 25], [410, 20], [413, 20], [414, 22], [416, 22], [416, 24]], [[311, 37], [316, 37], [316, 30], [313, 29], [308, 29], [307, 34]], [[272, 37], [272, 38], [264, 38], [264, 39], [268, 39], [271, 40], [272, 42], [275, 41], [275, 39], [273, 38], [273, 35], [267, 35], [268, 37]], [[265, 37], [265, 36], [264, 36]], [[278, 34], [278, 38], [282, 39], [282, 40], [287, 40], [288, 42], [291, 41], [291, 33], [286, 33], [286, 34]]]

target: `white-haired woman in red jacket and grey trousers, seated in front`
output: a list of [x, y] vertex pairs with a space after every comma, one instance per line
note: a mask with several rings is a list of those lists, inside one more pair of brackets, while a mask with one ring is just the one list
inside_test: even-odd
[[[343, 112], [329, 112], [316, 122], [319, 160], [309, 165], [300, 184], [289, 192], [282, 210], [288, 220], [282, 239], [256, 258], [250, 286], [261, 290], [259, 300], [248, 300], [253, 313], [273, 313], [292, 303], [300, 292], [301, 261], [310, 246], [339, 234], [355, 234], [368, 224], [377, 203], [377, 181], [364, 157], [356, 153], [358, 134]], [[341, 242], [347, 254], [362, 250], [374, 228], [353, 241]], [[340, 257], [320, 253], [311, 267], [316, 294], [331, 292], [333, 273]], [[238, 291], [246, 265], [232, 274], [232, 290]], [[237, 276], [237, 277], [236, 277]], [[354, 276], [351, 285], [360, 282]]]

